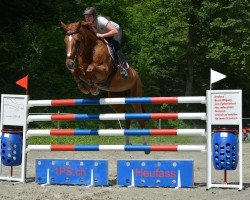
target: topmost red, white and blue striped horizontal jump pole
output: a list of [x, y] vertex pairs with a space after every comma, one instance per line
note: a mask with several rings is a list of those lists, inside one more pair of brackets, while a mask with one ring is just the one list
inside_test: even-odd
[[193, 97], [127, 97], [99, 99], [58, 99], [30, 100], [29, 107], [34, 106], [75, 106], [75, 105], [114, 105], [114, 104], [163, 104], [163, 103], [206, 103], [205, 96]]

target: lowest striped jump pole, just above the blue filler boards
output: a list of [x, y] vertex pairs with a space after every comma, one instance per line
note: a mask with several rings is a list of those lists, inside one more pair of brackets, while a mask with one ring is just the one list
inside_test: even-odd
[[205, 145], [28, 145], [26, 151], [206, 151]]

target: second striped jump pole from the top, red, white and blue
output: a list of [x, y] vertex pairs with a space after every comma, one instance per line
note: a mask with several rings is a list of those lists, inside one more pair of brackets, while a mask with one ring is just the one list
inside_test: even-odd
[[158, 120], [158, 119], [200, 119], [206, 120], [206, 113], [112, 113], [112, 114], [54, 114], [29, 115], [33, 121], [75, 121], [75, 120]]

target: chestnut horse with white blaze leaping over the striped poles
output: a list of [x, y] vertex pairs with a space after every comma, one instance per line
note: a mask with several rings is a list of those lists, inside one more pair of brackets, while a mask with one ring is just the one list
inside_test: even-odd
[[[66, 32], [66, 66], [71, 71], [78, 88], [84, 93], [97, 95], [99, 90], [108, 92], [108, 97], [142, 97], [142, 82], [133, 68], [128, 69], [128, 78], [122, 79], [120, 67], [111, 57], [104, 39], [98, 38], [93, 28], [86, 22], [78, 21], [70, 24], [61, 22]], [[78, 65], [77, 65], [78, 63]], [[110, 105], [117, 113], [126, 113], [125, 105]], [[144, 113], [141, 104], [133, 104], [137, 113]], [[139, 120], [145, 128], [145, 120]], [[130, 128], [131, 121], [125, 121], [125, 128]], [[126, 137], [126, 144], [129, 144]], [[146, 144], [146, 138], [143, 137]]]

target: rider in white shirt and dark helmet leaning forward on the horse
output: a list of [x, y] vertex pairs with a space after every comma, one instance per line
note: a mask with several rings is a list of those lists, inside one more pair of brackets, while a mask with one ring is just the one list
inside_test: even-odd
[[116, 53], [119, 66], [121, 67], [121, 76], [122, 78], [127, 78], [128, 64], [121, 50], [122, 31], [120, 26], [113, 21], [109, 21], [105, 17], [97, 16], [97, 12], [94, 7], [86, 8], [83, 15], [85, 21], [91, 23], [91, 25], [95, 28], [97, 37], [105, 38], [111, 48], [111, 51], [113, 51], [112, 53]]

